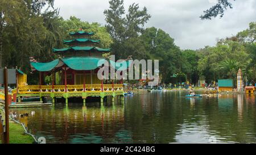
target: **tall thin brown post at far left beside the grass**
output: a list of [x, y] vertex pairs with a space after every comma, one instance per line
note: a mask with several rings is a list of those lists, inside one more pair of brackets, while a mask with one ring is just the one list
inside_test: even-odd
[[9, 144], [9, 99], [8, 99], [8, 72], [5, 67], [4, 71], [4, 85], [5, 85], [5, 144]]

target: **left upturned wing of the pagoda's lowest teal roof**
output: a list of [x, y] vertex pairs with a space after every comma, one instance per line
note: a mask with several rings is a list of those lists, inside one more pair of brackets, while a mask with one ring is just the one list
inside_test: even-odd
[[51, 62], [30, 62], [30, 64], [39, 72], [48, 72], [54, 69], [59, 64], [59, 62], [60, 60], [56, 59]]

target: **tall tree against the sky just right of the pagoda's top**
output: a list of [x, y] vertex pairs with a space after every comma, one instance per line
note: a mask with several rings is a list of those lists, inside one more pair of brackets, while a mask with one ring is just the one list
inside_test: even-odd
[[126, 58], [129, 55], [134, 58], [142, 57], [144, 48], [141, 47], [139, 36], [144, 31], [144, 24], [151, 17], [147, 14], [146, 7], [139, 10], [138, 4], [133, 3], [125, 15], [123, 0], [111, 0], [109, 5], [109, 9], [104, 10], [104, 15], [106, 29], [113, 38], [112, 52], [117, 58]]

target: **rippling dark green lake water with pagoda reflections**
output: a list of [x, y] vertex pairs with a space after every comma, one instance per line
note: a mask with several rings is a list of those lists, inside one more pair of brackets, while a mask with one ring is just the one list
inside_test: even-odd
[[20, 122], [46, 143], [256, 143], [254, 95], [187, 94], [144, 93], [125, 97], [123, 104], [56, 103], [11, 112], [35, 111]]

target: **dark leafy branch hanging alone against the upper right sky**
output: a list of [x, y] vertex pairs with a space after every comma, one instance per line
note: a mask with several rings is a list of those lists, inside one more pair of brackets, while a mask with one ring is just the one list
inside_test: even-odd
[[212, 19], [213, 17], [216, 18], [218, 15], [220, 15], [220, 18], [222, 18], [225, 10], [228, 8], [232, 9], [232, 3], [230, 3], [229, 0], [218, 0], [218, 3], [210, 7], [210, 9], [204, 11], [204, 15], [201, 15], [200, 18], [202, 20]]

